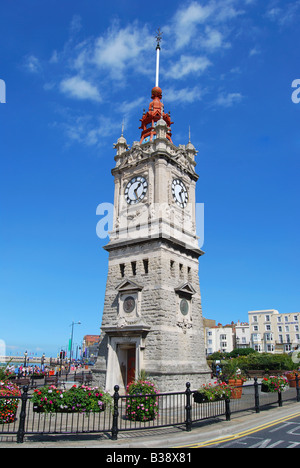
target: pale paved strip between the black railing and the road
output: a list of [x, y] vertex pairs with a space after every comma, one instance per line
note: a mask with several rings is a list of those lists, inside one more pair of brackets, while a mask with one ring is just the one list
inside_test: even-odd
[[191, 432], [185, 432], [183, 428], [159, 428], [147, 432], [120, 432], [117, 441], [113, 441], [107, 435], [81, 435], [72, 436], [44, 436], [44, 438], [26, 439], [23, 444], [12, 441], [0, 442], [0, 448], [105, 448], [118, 449], [149, 449], [149, 448], [173, 448], [186, 449], [206, 441], [230, 437], [243, 431], [258, 428], [274, 423], [277, 420], [292, 415], [300, 415], [300, 404], [292, 403], [287, 406], [264, 410], [259, 414], [245, 413], [233, 414], [231, 421], [202, 422], [194, 425]]

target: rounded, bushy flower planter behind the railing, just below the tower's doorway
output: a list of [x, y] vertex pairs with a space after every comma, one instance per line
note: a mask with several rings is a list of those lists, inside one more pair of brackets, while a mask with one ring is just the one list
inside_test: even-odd
[[152, 421], [158, 413], [158, 391], [152, 382], [138, 380], [127, 386], [126, 415], [132, 421]]

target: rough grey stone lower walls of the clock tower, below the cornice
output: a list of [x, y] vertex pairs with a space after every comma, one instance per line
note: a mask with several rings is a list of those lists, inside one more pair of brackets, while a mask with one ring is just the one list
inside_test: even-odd
[[[136, 262], [135, 274], [132, 271], [132, 261]], [[147, 272], [144, 261], [147, 261]], [[123, 270], [120, 264], [124, 264]], [[119, 311], [116, 288], [124, 278], [143, 287], [140, 297], [141, 319], [151, 327], [145, 337], [143, 349], [143, 368], [146, 374], [159, 384], [160, 391], [181, 391], [186, 381], [191, 381], [197, 387], [201, 385], [207, 377], [208, 368], [205, 360], [198, 260], [180, 252], [176, 245], [171, 247], [161, 241], [110, 252], [103, 328], [117, 327]], [[175, 292], [175, 288], [184, 283], [190, 283], [195, 289], [188, 317], [181, 314], [180, 297]], [[98, 372], [102, 370], [104, 373], [107, 359], [105, 334], [102, 335], [99, 350], [96, 367]]]

